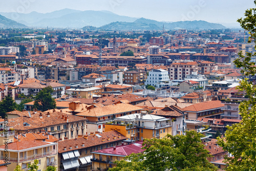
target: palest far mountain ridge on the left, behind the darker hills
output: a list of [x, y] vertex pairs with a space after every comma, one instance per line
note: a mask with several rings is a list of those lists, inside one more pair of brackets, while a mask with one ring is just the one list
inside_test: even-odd
[[50, 13], [0, 12], [7, 18], [15, 15], [15, 21], [33, 27], [82, 28], [84, 26], [100, 27], [112, 22], [134, 22], [137, 18], [117, 15], [110, 11], [79, 11], [62, 9]]

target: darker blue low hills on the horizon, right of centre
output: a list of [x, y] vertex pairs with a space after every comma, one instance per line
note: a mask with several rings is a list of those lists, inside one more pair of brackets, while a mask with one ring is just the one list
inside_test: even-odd
[[216, 23], [208, 23], [205, 21], [184, 21], [184, 22], [158, 22], [139, 18], [134, 22], [113, 22], [99, 27], [102, 30], [173, 30], [178, 28], [184, 29], [224, 29], [225, 26]]

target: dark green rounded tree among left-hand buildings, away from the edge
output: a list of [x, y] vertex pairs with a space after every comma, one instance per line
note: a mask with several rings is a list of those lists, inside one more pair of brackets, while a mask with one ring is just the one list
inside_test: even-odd
[[41, 91], [39, 91], [35, 97], [34, 108], [37, 108], [37, 110], [40, 111], [56, 108], [56, 102], [51, 96], [52, 92], [53, 89], [51, 86], [43, 88]]

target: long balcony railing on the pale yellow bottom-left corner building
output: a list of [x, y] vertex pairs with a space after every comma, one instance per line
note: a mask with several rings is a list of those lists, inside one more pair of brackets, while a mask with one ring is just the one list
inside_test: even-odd
[[[36, 155], [33, 155], [33, 156], [20, 157], [19, 160], [18, 160], [18, 158], [8, 157], [8, 161], [9, 162], [14, 162], [14, 163], [17, 163], [18, 161], [19, 162], [25, 162], [25, 161], [35, 160], [35, 159], [39, 159], [39, 158], [46, 157], [46, 156], [52, 156], [52, 155], [57, 155], [57, 150], [53, 150], [53, 151], [49, 151], [49, 152], [41, 153], [41, 154], [36, 154]], [[5, 160], [4, 156], [1, 156], [1, 159]]]

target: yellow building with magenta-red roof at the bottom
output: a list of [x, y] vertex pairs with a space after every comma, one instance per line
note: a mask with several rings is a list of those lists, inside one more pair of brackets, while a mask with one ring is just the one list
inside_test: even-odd
[[142, 141], [127, 145], [122, 143], [122, 145], [92, 151], [92, 170], [108, 170], [116, 166], [114, 163], [116, 160], [123, 160], [132, 153], [143, 153], [145, 149], [142, 149], [142, 143]]

